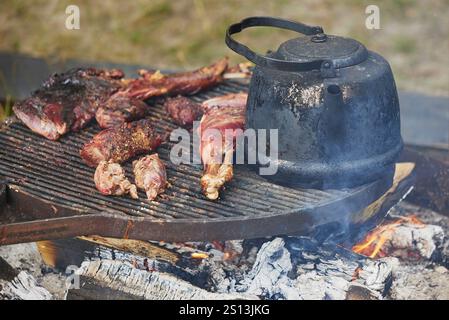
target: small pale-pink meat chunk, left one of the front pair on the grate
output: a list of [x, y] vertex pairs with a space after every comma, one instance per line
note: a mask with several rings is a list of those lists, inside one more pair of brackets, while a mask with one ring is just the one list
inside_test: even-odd
[[125, 177], [123, 168], [118, 163], [101, 161], [95, 170], [95, 186], [105, 195], [122, 196], [130, 194], [138, 199], [137, 188]]

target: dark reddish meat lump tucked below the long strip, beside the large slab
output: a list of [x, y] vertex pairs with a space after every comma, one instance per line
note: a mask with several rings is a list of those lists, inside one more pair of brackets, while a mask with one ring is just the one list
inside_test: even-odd
[[97, 109], [95, 119], [101, 128], [111, 128], [124, 122], [145, 117], [148, 106], [145, 102], [115, 94]]

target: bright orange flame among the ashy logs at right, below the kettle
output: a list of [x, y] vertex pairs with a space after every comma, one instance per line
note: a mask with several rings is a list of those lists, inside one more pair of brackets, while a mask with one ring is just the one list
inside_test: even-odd
[[384, 244], [393, 237], [396, 228], [404, 224], [424, 226], [416, 216], [401, 217], [396, 221], [381, 225], [370, 232], [365, 239], [352, 247], [352, 251], [374, 259], [378, 256], [385, 256], [382, 252]]

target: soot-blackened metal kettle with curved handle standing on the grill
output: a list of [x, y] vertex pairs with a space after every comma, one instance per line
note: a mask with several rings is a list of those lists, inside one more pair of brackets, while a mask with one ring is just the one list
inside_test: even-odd
[[[262, 56], [232, 38], [254, 26], [304, 36]], [[246, 127], [278, 129], [278, 156], [263, 163], [276, 162], [277, 173], [265, 178], [327, 189], [392, 176], [403, 143], [396, 85], [383, 57], [321, 27], [271, 17], [231, 25], [226, 44], [256, 65]]]

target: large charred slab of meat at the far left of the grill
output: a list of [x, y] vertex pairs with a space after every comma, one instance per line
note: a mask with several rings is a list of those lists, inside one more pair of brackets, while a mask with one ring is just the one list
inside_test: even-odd
[[32, 131], [57, 140], [70, 130], [82, 129], [99, 105], [121, 87], [122, 76], [119, 70], [93, 68], [54, 74], [13, 110]]

